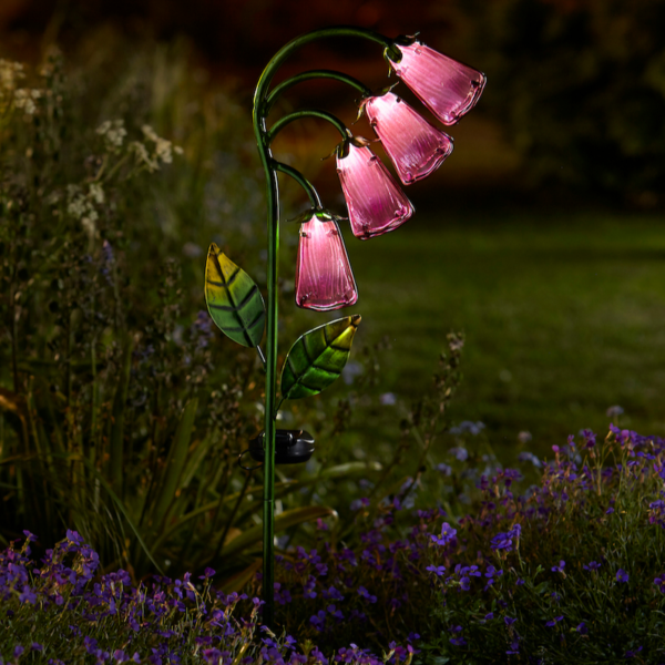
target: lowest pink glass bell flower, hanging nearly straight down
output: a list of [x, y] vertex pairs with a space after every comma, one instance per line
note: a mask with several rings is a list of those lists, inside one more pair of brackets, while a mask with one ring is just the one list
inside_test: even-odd
[[337, 223], [313, 215], [300, 225], [296, 305], [327, 311], [357, 300], [356, 280]]

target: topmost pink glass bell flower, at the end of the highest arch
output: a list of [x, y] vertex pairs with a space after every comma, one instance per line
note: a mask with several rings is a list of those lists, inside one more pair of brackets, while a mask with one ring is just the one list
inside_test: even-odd
[[396, 47], [402, 58], [392, 62], [395, 73], [443, 124], [454, 124], [473, 109], [487, 81], [482, 72], [419, 41]]

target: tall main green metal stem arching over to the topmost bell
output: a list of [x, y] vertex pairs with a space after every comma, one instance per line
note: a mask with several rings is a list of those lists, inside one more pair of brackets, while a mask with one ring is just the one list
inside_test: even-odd
[[[277, 256], [279, 252], [279, 190], [277, 170], [270, 152], [270, 137], [266, 117], [268, 89], [277, 70], [297, 49], [317, 39], [327, 37], [360, 37], [377, 42], [383, 49], [390, 49], [392, 40], [372, 30], [340, 25], [324, 28], [303, 34], [285, 47], [270, 60], [260, 75], [254, 93], [254, 136], [258, 154], [266, 175], [266, 204], [268, 225], [268, 266], [267, 266], [267, 321], [266, 321], [266, 400], [265, 400], [265, 462], [264, 462], [264, 511], [263, 511], [263, 598], [265, 602], [263, 621], [273, 630], [275, 625], [275, 432], [276, 432], [276, 392], [277, 392]], [[276, 99], [276, 98], [273, 98]], [[291, 114], [293, 115], [293, 114]], [[320, 116], [319, 116], [320, 117]], [[293, 120], [296, 120], [295, 117]], [[282, 125], [284, 126], [284, 125]], [[342, 127], [346, 136], [346, 127]]]

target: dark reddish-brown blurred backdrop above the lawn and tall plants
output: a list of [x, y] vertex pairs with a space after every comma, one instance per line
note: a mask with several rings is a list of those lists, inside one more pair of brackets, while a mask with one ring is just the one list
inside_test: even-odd
[[[2, 0], [3, 51], [35, 59], [49, 42], [66, 51], [100, 30], [133, 40], [186, 39], [217, 83], [249, 104], [270, 57], [294, 37], [357, 24], [422, 40], [482, 69], [489, 85], [454, 134], [454, 195], [471, 186], [540, 204], [600, 201], [640, 208], [665, 198], [665, 3], [661, 0]], [[284, 75], [316, 59], [385, 84], [377, 47], [329, 40], [304, 49]], [[330, 86], [301, 86], [300, 101]], [[337, 91], [334, 94], [338, 94]], [[295, 99], [295, 98], [291, 98]], [[488, 120], [490, 119], [490, 120]], [[456, 127], [457, 130], [457, 127]], [[528, 164], [528, 167], [521, 165]], [[482, 182], [483, 186], [478, 187]], [[441, 185], [434, 180], [429, 185]], [[508, 192], [508, 193], [507, 193]], [[462, 195], [463, 200], [468, 200]]]

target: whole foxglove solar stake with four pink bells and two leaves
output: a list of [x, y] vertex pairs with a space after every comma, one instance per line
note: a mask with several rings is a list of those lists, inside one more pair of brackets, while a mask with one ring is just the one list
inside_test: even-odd
[[[286, 44], [268, 63], [256, 86], [254, 133], [267, 181], [267, 309], [252, 277], [221, 253], [215, 244], [211, 245], [207, 257], [205, 297], [215, 324], [233, 340], [256, 348], [266, 371], [265, 430], [253, 441], [249, 451], [255, 459], [264, 462], [263, 600], [264, 623], [270, 628], [275, 612], [275, 461], [304, 461], [311, 453], [311, 448], [307, 448], [311, 439], [306, 432], [276, 429], [277, 411], [285, 399], [317, 395], [339, 377], [360, 323], [360, 316], [352, 315], [303, 335], [290, 348], [282, 368], [282, 397], [277, 401], [278, 173], [299, 183], [311, 203], [300, 227], [296, 305], [318, 311], [339, 309], [354, 305], [358, 291], [337, 218], [324, 208], [316, 190], [301, 173], [273, 157], [270, 144], [286, 125], [303, 117], [325, 120], [339, 131], [341, 143], [336, 150], [337, 172], [351, 229], [361, 239], [393, 231], [413, 214], [413, 206], [370, 151], [370, 142], [354, 136], [335, 115], [314, 109], [296, 111], [268, 127], [268, 114], [277, 99], [293, 85], [311, 79], [332, 79], [361, 93], [360, 110], [367, 113], [405, 185], [432, 173], [452, 151], [450, 136], [391, 91], [374, 94], [364, 83], [341, 72], [306, 71], [270, 90], [277, 70], [294, 51], [328, 37], [358, 37], [380, 44], [385, 59], [398, 78], [443, 124], [454, 124], [470, 111], [485, 83], [481, 72], [429, 49], [415, 37], [392, 40], [371, 30], [337, 27], [308, 32]], [[264, 327], [267, 327], [265, 356], [259, 346]], [[298, 448], [298, 454], [289, 454], [290, 446]]]

